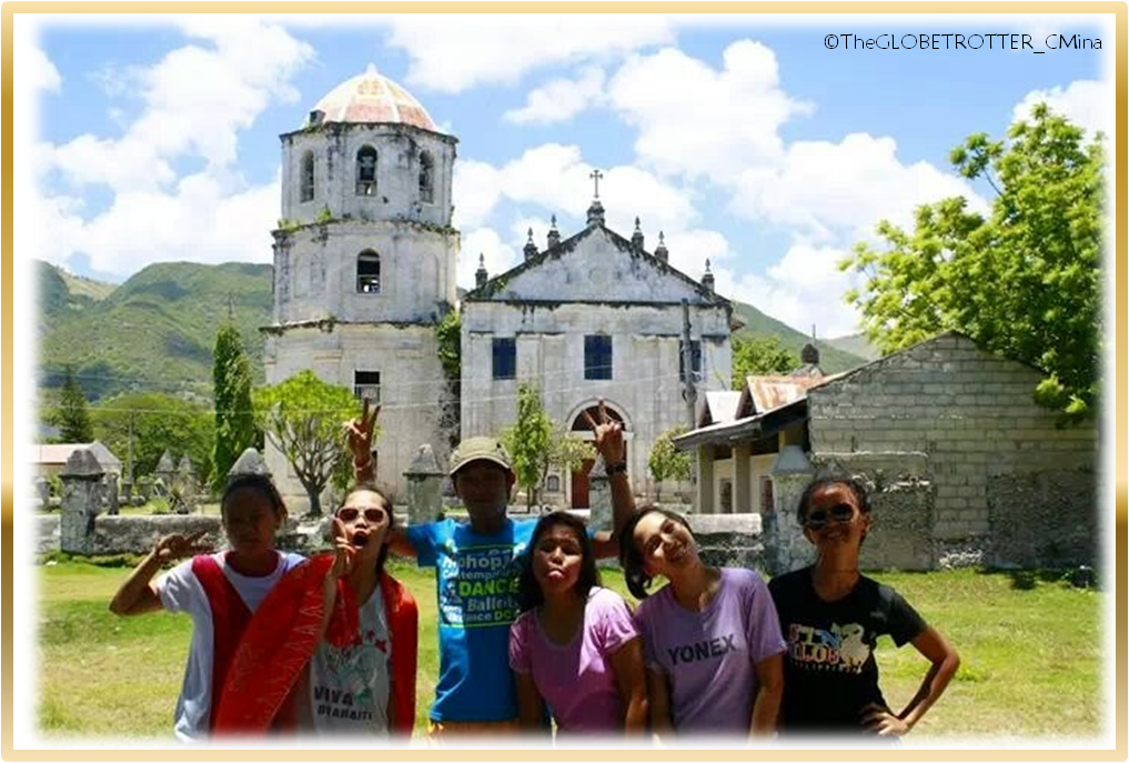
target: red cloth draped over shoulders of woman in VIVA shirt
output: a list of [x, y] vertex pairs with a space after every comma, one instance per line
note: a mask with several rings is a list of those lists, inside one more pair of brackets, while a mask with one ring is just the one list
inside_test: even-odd
[[[213, 748], [268, 748], [271, 723], [321, 640], [323, 582], [332, 565], [332, 555], [309, 559], [288, 572], [255, 611], [212, 719]], [[395, 742], [406, 749], [415, 721], [418, 611], [411, 593], [391, 576], [382, 575], [379, 582], [393, 643], [390, 699], [400, 727]], [[325, 639], [338, 648], [360, 639], [357, 599], [343, 580], [338, 581]]]

